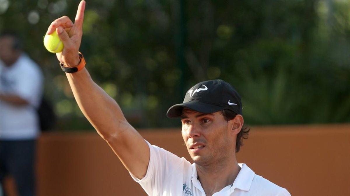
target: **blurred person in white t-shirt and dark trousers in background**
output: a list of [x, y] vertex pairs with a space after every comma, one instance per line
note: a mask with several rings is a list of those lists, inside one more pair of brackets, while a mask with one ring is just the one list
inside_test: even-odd
[[19, 195], [35, 195], [36, 108], [42, 97], [39, 66], [22, 50], [16, 33], [0, 35], [0, 182], [14, 177]]

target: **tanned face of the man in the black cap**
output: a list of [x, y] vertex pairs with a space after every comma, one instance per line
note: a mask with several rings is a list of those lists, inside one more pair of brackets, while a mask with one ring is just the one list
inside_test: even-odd
[[182, 137], [197, 165], [217, 164], [235, 152], [235, 136], [220, 112], [203, 114], [187, 108], [181, 115]]

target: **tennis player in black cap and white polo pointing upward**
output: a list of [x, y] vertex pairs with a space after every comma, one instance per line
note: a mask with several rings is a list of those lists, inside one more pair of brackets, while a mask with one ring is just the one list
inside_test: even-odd
[[85, 68], [78, 52], [84, 9], [81, 1], [74, 23], [67, 16], [58, 18], [47, 34], [56, 31], [64, 43], [57, 59], [80, 109], [148, 195], [290, 195], [237, 163], [236, 152], [249, 130], [243, 128], [239, 94], [222, 80], [194, 85], [183, 103], [167, 112], [169, 118], [181, 119], [182, 137], [194, 164], [145, 141]]

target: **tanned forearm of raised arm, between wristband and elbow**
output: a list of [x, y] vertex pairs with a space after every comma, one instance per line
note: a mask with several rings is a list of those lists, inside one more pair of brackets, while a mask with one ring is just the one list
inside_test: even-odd
[[85, 68], [66, 76], [80, 110], [105, 140], [128, 126], [116, 101], [92, 81]]

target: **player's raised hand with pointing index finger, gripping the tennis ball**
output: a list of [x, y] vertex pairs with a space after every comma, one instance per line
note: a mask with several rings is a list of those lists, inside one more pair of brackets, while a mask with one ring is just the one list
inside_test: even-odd
[[47, 30], [50, 35], [56, 30], [58, 37], [64, 44], [62, 52], [56, 53], [57, 59], [65, 66], [74, 67], [79, 64], [78, 51], [83, 36], [85, 1], [79, 3], [74, 24], [68, 16], [62, 16], [52, 22]]

